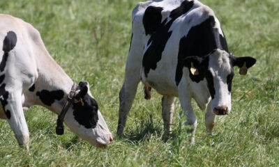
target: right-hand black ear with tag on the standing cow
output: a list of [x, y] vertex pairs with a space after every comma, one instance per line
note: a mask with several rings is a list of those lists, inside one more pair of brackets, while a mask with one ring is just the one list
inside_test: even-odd
[[239, 67], [239, 74], [246, 75], [248, 68], [256, 63], [256, 59], [252, 57], [234, 57], [233, 65]]

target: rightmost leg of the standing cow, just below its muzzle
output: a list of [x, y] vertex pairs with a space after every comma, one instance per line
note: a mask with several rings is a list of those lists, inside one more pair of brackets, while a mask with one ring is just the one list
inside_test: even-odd
[[211, 104], [212, 104], [212, 100], [209, 102], [209, 104], [207, 105], [207, 109], [206, 109], [206, 113], [205, 113], [205, 126], [206, 126], [206, 132], [208, 134], [211, 134], [212, 129], [215, 125], [216, 122], [216, 114], [214, 114], [212, 112], [211, 109]]

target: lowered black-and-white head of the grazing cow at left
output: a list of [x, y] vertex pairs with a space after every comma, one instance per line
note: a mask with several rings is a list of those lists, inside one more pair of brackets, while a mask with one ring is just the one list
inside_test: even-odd
[[92, 145], [103, 147], [112, 142], [112, 134], [93, 99], [87, 81], [77, 86], [75, 101], [68, 109], [64, 121], [77, 136]]

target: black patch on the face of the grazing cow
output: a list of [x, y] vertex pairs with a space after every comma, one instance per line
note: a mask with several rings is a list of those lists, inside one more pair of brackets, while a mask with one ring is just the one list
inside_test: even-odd
[[98, 104], [88, 94], [82, 97], [82, 101], [84, 106], [81, 102], [73, 103], [75, 120], [88, 129], [95, 128], [98, 122]]

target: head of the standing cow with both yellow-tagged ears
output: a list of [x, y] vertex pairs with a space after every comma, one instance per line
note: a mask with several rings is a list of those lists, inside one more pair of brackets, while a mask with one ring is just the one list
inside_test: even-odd
[[233, 67], [239, 67], [239, 74], [245, 75], [248, 68], [255, 63], [255, 58], [236, 57], [220, 49], [202, 58], [190, 56], [184, 60], [184, 65], [189, 69], [190, 79], [197, 82], [206, 79], [212, 100], [212, 111], [216, 115], [225, 115], [232, 108]]

